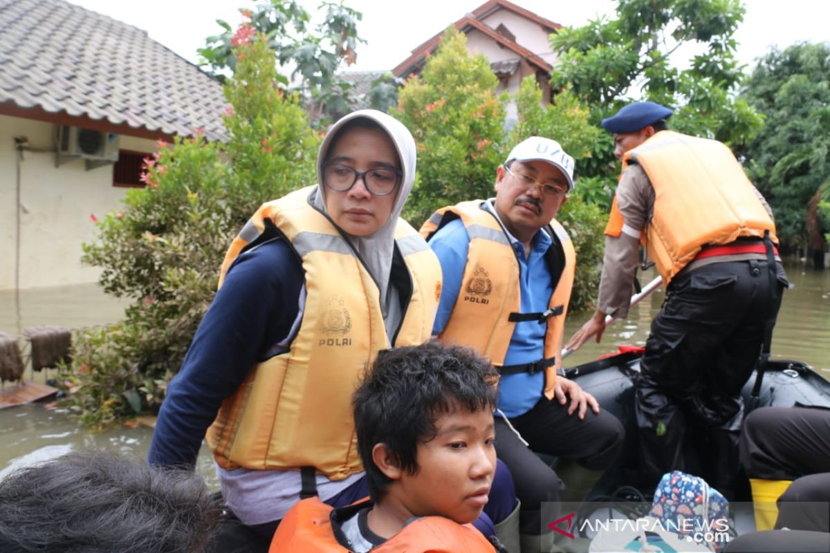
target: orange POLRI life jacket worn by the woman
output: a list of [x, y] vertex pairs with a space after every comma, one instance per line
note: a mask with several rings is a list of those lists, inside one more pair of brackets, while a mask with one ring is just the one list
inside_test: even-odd
[[[272, 221], [302, 260], [305, 308], [289, 351], [251, 367], [222, 402], [207, 443], [222, 468], [309, 466], [341, 480], [362, 470], [352, 390], [390, 343], [374, 279], [339, 230], [310, 206], [309, 193], [304, 188], [261, 206], [248, 224], [254, 231], [242, 230], [227, 254], [223, 272]], [[403, 220], [395, 244], [412, 295], [392, 345], [417, 345], [432, 333], [441, 266]]]

